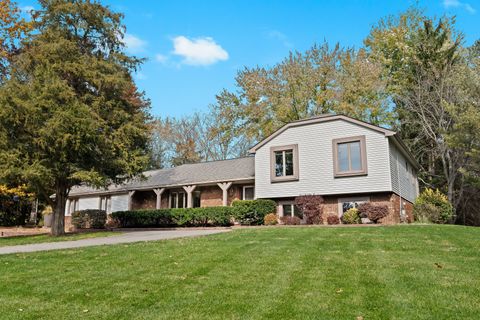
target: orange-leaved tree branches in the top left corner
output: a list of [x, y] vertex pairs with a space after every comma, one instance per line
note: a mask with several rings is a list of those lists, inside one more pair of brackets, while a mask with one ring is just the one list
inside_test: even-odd
[[0, 83], [8, 76], [8, 66], [18, 54], [20, 41], [31, 30], [32, 24], [20, 17], [20, 9], [15, 2], [0, 1]]

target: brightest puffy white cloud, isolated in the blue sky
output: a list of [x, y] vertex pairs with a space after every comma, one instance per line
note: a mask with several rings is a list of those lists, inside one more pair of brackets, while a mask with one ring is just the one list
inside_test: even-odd
[[210, 65], [228, 59], [225, 51], [212, 38], [188, 39], [178, 36], [173, 39], [173, 53], [183, 57], [183, 63], [189, 65]]

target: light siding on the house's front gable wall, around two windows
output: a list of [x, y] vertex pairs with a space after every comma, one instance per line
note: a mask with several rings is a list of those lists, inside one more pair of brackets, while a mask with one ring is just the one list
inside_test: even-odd
[[[334, 177], [332, 140], [365, 136], [368, 174]], [[298, 144], [298, 181], [270, 181], [270, 148]], [[259, 148], [255, 155], [255, 196], [295, 197], [302, 194], [349, 194], [392, 190], [388, 138], [344, 120], [287, 129]]]

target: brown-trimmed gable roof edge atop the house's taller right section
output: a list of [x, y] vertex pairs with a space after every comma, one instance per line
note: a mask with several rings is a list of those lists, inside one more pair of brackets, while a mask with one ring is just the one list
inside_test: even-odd
[[344, 120], [346, 122], [350, 122], [350, 123], [359, 125], [361, 127], [383, 133], [386, 137], [389, 137], [393, 140], [393, 142], [399, 147], [400, 151], [410, 160], [410, 162], [414, 165], [414, 167], [416, 167], [417, 169], [420, 168], [420, 164], [415, 160], [415, 157], [412, 155], [412, 153], [408, 150], [407, 146], [400, 139], [397, 132], [392, 131], [390, 129], [376, 126], [374, 124], [371, 124], [365, 121], [357, 120], [343, 114], [323, 114], [316, 117], [296, 120], [296, 121], [287, 123], [286, 125], [282, 126], [280, 129], [278, 129], [277, 131], [275, 131], [274, 133], [272, 133], [271, 135], [263, 139], [262, 141], [258, 142], [255, 146], [250, 148], [249, 152], [252, 154], [256, 153], [258, 149], [263, 147], [269, 141], [273, 140], [275, 137], [279, 136], [289, 128], [328, 122], [328, 121], [335, 121], [335, 120]]

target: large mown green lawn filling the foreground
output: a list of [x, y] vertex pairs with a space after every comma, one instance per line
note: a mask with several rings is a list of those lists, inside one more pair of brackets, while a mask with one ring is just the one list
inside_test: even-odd
[[0, 256], [2, 319], [478, 319], [480, 228], [242, 229]]

